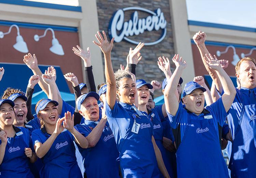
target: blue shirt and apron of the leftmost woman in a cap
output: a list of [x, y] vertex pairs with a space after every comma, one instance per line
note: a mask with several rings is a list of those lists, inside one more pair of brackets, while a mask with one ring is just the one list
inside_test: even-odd
[[34, 176], [29, 168], [29, 158], [25, 155], [25, 148], [32, 149], [33, 147], [29, 131], [24, 127], [13, 126], [13, 128], [16, 135], [11, 138], [8, 137], [3, 161], [0, 165], [0, 177], [33, 178]]

